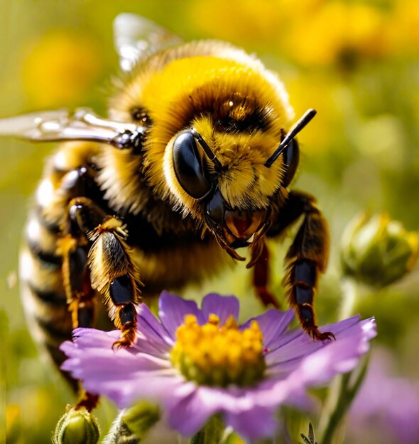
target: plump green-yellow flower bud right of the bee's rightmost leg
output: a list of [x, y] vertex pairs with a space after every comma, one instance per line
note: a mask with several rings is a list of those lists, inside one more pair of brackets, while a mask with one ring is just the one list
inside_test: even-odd
[[374, 287], [385, 287], [412, 270], [418, 251], [418, 233], [409, 233], [386, 214], [364, 214], [352, 219], [342, 235], [343, 272]]

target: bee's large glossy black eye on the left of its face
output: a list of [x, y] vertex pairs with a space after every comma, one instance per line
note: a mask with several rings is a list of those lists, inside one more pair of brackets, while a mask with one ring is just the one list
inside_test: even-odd
[[180, 133], [173, 144], [173, 167], [176, 178], [187, 194], [202, 199], [211, 191], [211, 182], [205, 171], [193, 135]]

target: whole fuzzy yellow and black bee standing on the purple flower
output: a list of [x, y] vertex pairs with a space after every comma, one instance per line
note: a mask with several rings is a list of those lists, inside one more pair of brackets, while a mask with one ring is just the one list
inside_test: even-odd
[[115, 42], [125, 74], [108, 118], [77, 109], [0, 121], [3, 135], [64, 141], [45, 167], [21, 252], [33, 335], [60, 365], [73, 328], [106, 324], [104, 304], [121, 331], [114, 345], [129, 347], [137, 304], [244, 260], [240, 248], [257, 296], [278, 306], [266, 239], [301, 219], [285, 257], [288, 302], [312, 338], [332, 338], [313, 308], [327, 223], [313, 196], [290, 189], [295, 136], [315, 111], [292, 126], [279, 77], [228, 43], [183, 43], [134, 14], [116, 18]]

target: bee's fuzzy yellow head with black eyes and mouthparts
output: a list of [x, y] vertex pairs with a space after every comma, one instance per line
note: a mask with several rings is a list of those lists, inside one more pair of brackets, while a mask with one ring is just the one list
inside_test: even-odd
[[166, 179], [183, 212], [204, 223], [237, 259], [236, 248], [269, 228], [273, 197], [286, 194], [295, 173], [298, 144], [290, 133], [283, 133], [284, 145], [269, 131], [214, 131], [213, 122], [200, 117], [165, 152]]

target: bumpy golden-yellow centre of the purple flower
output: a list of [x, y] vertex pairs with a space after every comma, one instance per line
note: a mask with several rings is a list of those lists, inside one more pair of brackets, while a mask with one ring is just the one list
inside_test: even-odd
[[173, 366], [192, 381], [202, 385], [226, 387], [251, 386], [263, 378], [263, 334], [256, 321], [239, 331], [233, 316], [223, 326], [210, 314], [200, 326], [194, 315], [176, 331], [176, 343], [170, 352]]

